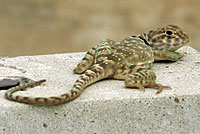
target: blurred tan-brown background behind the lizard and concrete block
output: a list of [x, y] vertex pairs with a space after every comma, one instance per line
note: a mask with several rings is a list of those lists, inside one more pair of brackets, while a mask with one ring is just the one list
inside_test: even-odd
[[87, 51], [167, 24], [200, 50], [199, 14], [197, 0], [0, 0], [0, 56]]

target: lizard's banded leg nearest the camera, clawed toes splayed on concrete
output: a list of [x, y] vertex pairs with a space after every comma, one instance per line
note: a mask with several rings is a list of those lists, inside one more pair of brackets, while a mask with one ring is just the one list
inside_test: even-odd
[[142, 70], [140, 72], [128, 75], [125, 79], [126, 87], [137, 87], [144, 91], [145, 87], [151, 87], [157, 89], [157, 93], [162, 92], [164, 88], [170, 88], [169, 86], [163, 86], [156, 81], [156, 74], [151, 70]]

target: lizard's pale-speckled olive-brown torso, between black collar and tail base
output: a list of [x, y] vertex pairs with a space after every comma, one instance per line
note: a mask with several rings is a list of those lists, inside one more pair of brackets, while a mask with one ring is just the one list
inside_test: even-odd
[[137, 72], [138, 69], [150, 68], [154, 61], [154, 54], [145, 42], [137, 36], [130, 36], [107, 47], [100, 48], [96, 55], [95, 64], [105, 60], [115, 63], [115, 79], [124, 79], [126, 75]]

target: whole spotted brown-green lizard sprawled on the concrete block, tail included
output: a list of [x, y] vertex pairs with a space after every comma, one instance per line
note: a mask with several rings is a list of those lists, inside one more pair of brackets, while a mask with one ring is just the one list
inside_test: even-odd
[[58, 96], [25, 97], [15, 95], [16, 91], [38, 86], [46, 80], [39, 80], [10, 88], [5, 98], [26, 104], [58, 105], [74, 100], [89, 85], [106, 78], [124, 80], [126, 87], [145, 90], [171, 88], [156, 82], [156, 74], [150, 68], [154, 61], [177, 61], [186, 52], [176, 51], [189, 42], [189, 36], [178, 26], [167, 25], [121, 41], [104, 39], [89, 49], [74, 72], [81, 74], [71, 90]]

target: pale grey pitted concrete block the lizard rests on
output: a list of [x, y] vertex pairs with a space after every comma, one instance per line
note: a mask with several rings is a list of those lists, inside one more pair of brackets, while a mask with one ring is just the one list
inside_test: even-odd
[[[153, 65], [158, 82], [169, 85], [156, 95], [124, 86], [123, 81], [102, 80], [76, 100], [58, 106], [33, 106], [8, 101], [0, 91], [1, 134], [199, 134], [200, 53], [191, 47], [178, 62]], [[3, 76], [47, 79], [46, 84], [17, 92], [26, 96], [53, 96], [70, 90], [79, 75], [73, 68], [85, 53], [1, 58], [0, 63], [26, 72], [0, 67]]]

